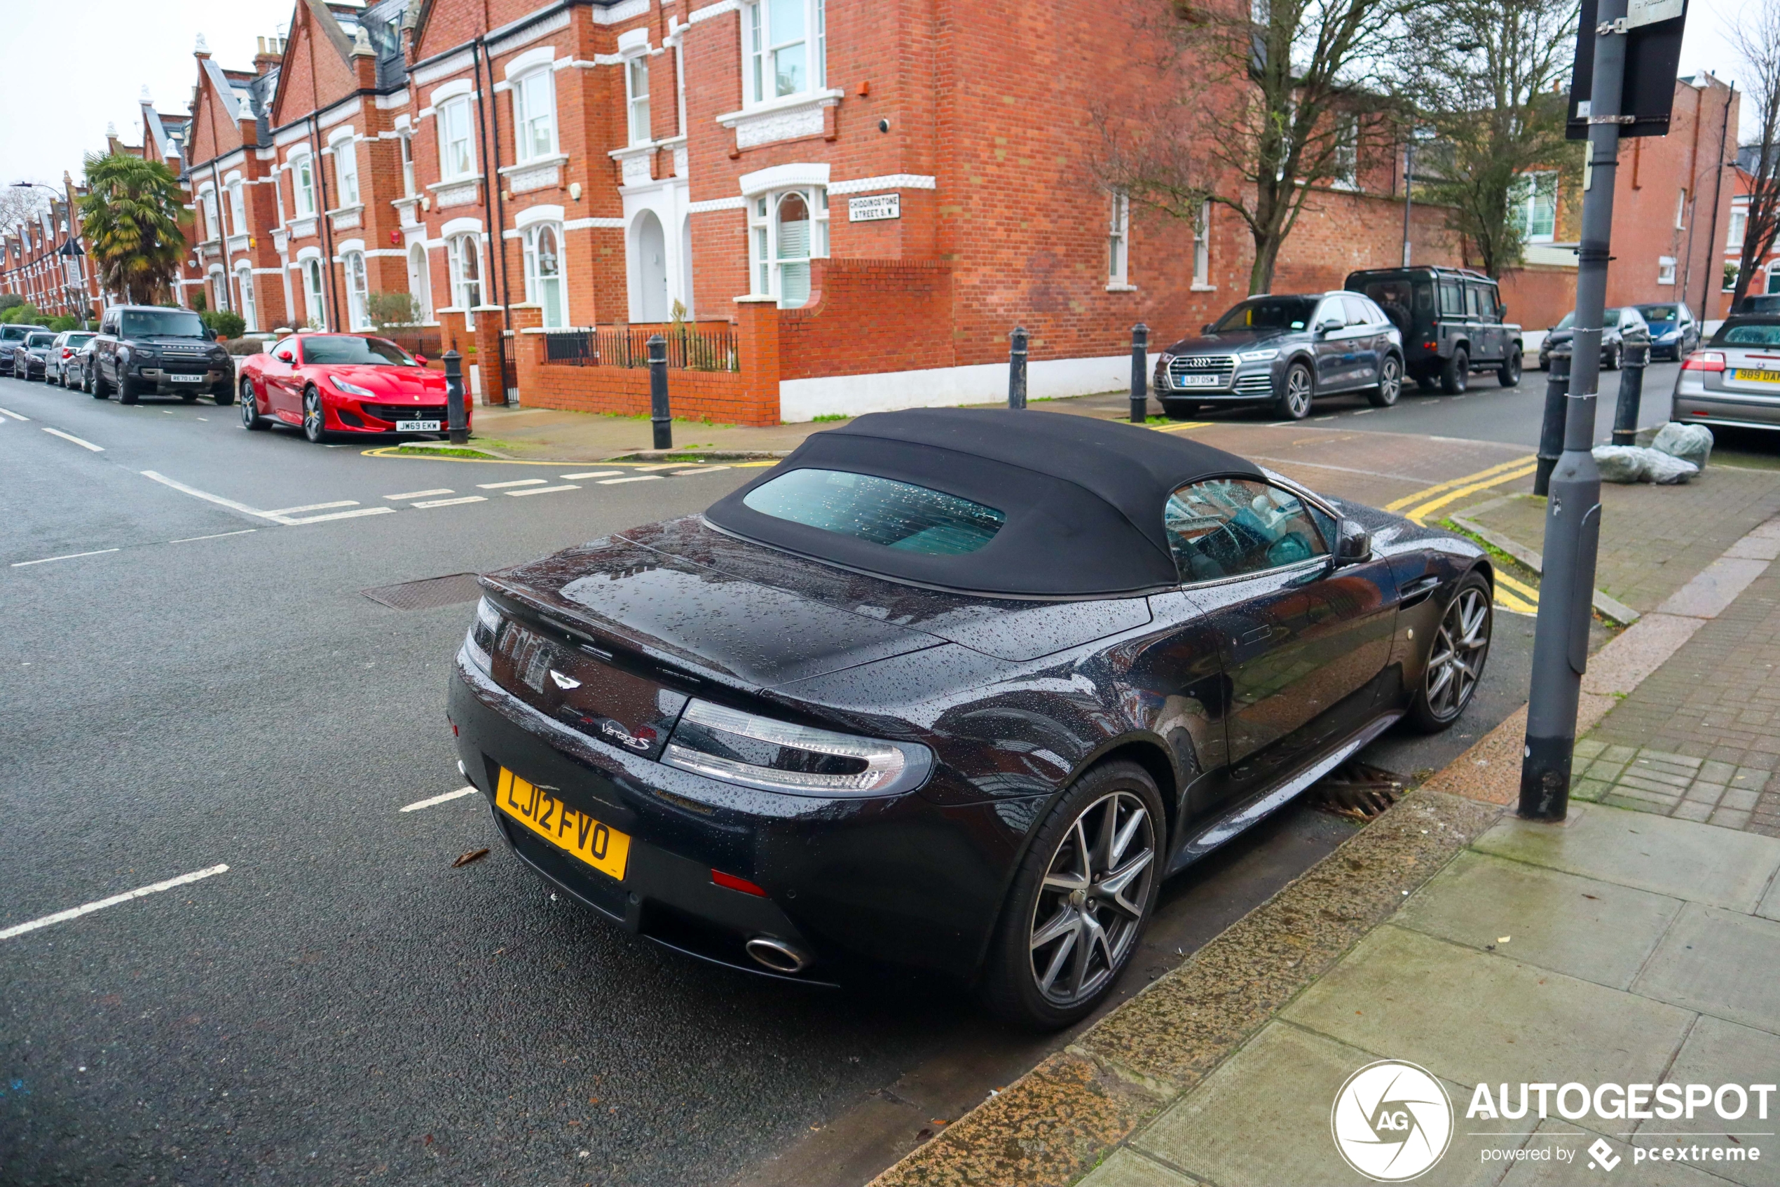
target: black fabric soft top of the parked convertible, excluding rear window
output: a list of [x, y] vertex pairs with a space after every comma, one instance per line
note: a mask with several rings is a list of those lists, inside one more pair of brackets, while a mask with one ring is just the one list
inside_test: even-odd
[[[1002, 511], [977, 552], [922, 555], [762, 514], [744, 498], [790, 470], [846, 470]], [[705, 518], [774, 548], [961, 593], [1104, 598], [1178, 582], [1162, 509], [1185, 482], [1260, 470], [1171, 432], [1068, 413], [938, 408], [870, 413], [810, 436]]]

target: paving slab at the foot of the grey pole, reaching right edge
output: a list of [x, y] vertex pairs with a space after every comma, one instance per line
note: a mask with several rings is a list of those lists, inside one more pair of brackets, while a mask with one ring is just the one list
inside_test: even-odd
[[1709, 824], [1607, 804], [1572, 806], [1570, 819], [1556, 826], [1504, 819], [1472, 847], [1737, 911], [1753, 911], [1780, 870], [1780, 840], [1771, 836], [1727, 835]]

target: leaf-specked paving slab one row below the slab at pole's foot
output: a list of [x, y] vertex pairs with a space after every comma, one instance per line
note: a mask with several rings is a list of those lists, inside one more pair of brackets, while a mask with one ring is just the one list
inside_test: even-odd
[[1646, 890], [1461, 852], [1396, 924], [1629, 989], [1680, 909], [1680, 899]]

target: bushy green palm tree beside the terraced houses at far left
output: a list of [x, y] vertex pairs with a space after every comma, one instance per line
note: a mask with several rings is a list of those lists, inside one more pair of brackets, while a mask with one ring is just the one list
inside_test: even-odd
[[185, 256], [183, 205], [180, 180], [158, 160], [87, 157], [80, 226], [105, 288], [125, 301], [153, 301], [173, 288]]

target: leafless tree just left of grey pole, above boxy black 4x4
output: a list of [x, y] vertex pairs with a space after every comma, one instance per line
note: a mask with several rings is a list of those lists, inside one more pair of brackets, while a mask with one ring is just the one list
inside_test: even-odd
[[[1403, 91], [1438, 139], [1428, 198], [1501, 276], [1522, 260], [1529, 169], [1581, 171], [1565, 142], [1575, 0], [1444, 0], [1408, 18]], [[1556, 198], [1556, 187], [1554, 187]]]

